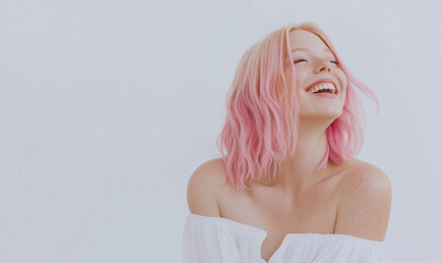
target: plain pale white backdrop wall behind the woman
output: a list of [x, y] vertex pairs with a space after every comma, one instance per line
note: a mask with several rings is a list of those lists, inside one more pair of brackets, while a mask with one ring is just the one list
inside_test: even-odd
[[[0, 1], [0, 261], [181, 262], [242, 54], [313, 21], [364, 98], [395, 262], [442, 258], [437, 1]], [[362, 94], [361, 94], [362, 95]]]

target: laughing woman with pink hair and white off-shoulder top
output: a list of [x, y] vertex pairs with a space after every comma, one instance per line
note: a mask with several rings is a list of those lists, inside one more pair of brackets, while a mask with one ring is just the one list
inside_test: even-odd
[[356, 88], [314, 23], [269, 34], [243, 55], [218, 147], [188, 185], [184, 262], [390, 262], [390, 183], [356, 160]]

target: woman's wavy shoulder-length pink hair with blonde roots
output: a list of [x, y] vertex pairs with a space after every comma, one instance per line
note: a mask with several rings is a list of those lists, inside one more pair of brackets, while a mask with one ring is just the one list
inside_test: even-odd
[[[327, 35], [314, 23], [279, 28], [242, 56], [227, 94], [227, 115], [217, 147], [226, 168], [226, 183], [249, 190], [246, 182], [275, 178], [281, 163], [296, 151], [298, 103], [288, 34], [305, 30], [316, 34], [335, 54], [348, 79], [342, 114], [327, 128], [328, 148], [316, 171], [330, 158], [341, 164], [356, 156], [364, 140], [365, 114], [355, 88], [376, 102], [376, 95], [345, 68]], [[290, 65], [288, 73], [284, 69]], [[287, 80], [288, 79], [288, 80]]]

